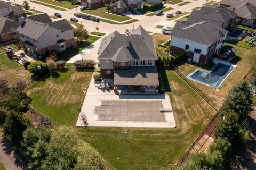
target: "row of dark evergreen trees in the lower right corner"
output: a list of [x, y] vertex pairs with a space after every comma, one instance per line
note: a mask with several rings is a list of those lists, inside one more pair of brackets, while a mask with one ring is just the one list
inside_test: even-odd
[[207, 153], [190, 154], [189, 160], [177, 170], [237, 169], [246, 142], [250, 139], [248, 114], [252, 106], [252, 92], [243, 80], [228, 92], [219, 111], [215, 139]]

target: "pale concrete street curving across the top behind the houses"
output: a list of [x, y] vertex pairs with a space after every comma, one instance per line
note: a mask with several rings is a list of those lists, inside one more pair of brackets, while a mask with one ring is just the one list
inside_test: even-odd
[[[156, 28], [157, 25], [163, 25], [164, 27], [173, 27], [175, 25], [174, 21], [166, 20], [167, 13], [173, 13], [175, 11], [191, 12], [191, 9], [206, 3], [205, 0], [197, 0], [197, 1], [189, 0], [189, 1], [191, 3], [183, 5], [183, 6], [171, 5], [171, 7], [175, 7], [174, 10], [165, 12], [164, 16], [151, 16], [151, 17], [147, 17], [147, 18], [145, 18], [145, 16], [142, 16], [141, 20], [131, 23], [131, 24], [116, 25], [116, 24], [109, 24], [106, 22], [96, 23], [96, 22], [84, 20], [81, 18], [79, 18], [78, 20], [79, 20], [79, 22], [82, 21], [82, 24], [89, 32], [96, 31], [95, 30], [96, 26], [98, 26], [100, 28], [100, 32], [104, 32], [107, 34], [113, 32], [114, 30], [118, 30], [119, 32], [124, 32], [126, 29], [129, 29], [129, 30], [132, 29], [133, 25], [135, 28], [137, 28], [139, 25], [141, 25], [145, 30], [150, 31], [150, 32], [161, 32], [161, 29]], [[10, 0], [10, 2], [14, 2], [14, 0]], [[17, 4], [22, 4], [23, 0], [15, 0], [15, 2]], [[73, 17], [73, 14], [76, 12], [76, 8], [74, 8], [72, 10], [67, 10], [67, 11], [59, 11], [59, 10], [55, 10], [54, 8], [35, 4], [33, 2], [29, 2], [29, 5], [30, 5], [30, 8], [35, 7], [35, 10], [46, 12], [49, 15], [53, 15], [54, 12], [60, 12], [62, 14], [62, 18], [66, 18], [67, 20], [69, 20], [71, 17]], [[79, 8], [78, 8], [78, 10], [79, 10]]]

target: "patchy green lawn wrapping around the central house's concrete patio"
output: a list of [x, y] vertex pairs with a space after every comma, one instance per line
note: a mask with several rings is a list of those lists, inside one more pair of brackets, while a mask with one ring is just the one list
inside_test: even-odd
[[[160, 72], [177, 128], [128, 128], [128, 133], [124, 128], [76, 129], [113, 169], [170, 169], [215, 114], [174, 71]], [[28, 94], [36, 111], [54, 123], [75, 126], [91, 76], [89, 71], [67, 71], [37, 83]]]

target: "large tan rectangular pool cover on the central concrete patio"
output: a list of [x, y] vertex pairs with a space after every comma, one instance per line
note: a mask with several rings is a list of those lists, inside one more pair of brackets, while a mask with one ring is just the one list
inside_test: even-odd
[[102, 100], [95, 106], [97, 121], [165, 122], [162, 100]]

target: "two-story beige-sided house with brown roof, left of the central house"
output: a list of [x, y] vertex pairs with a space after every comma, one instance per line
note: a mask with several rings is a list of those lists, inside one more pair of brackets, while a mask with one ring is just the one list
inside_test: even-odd
[[42, 23], [21, 17], [19, 24], [17, 32], [23, 49], [36, 57], [46, 57], [47, 52], [62, 52], [75, 45], [74, 28], [66, 19]]

